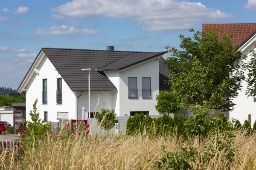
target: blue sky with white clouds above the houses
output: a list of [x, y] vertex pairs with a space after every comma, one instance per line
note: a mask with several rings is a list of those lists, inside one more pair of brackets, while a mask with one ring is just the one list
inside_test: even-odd
[[255, 10], [256, 0], [1, 0], [0, 86], [17, 89], [43, 47], [164, 51], [202, 23], [255, 22]]

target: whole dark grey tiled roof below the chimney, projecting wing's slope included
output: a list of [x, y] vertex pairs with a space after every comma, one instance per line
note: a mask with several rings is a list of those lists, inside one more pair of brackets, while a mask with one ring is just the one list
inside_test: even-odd
[[[118, 63], [118, 67], [126, 68], [130, 65], [151, 59], [152, 54], [153, 57], [157, 57], [166, 53], [166, 51], [151, 53], [138, 51], [106, 51], [69, 48], [42, 48], [41, 51], [43, 51], [50, 62], [52, 62], [52, 65], [54, 65], [58, 73], [72, 91], [88, 91], [88, 71], [83, 71], [82, 69], [84, 68], [91, 68], [91, 91], [116, 91], [116, 87], [113, 85], [110, 79], [108, 79], [103, 71], [100, 71], [101, 68], [104, 68], [106, 65], [110, 64], [113, 67], [116, 67], [116, 64], [113, 64], [114, 62]], [[125, 59], [125, 57], [128, 57], [128, 59]], [[131, 58], [133, 58], [133, 60], [131, 60]], [[118, 60], [123, 62], [117, 62]], [[32, 66], [29, 68], [29, 71], [31, 68]], [[117, 69], [114, 68], [112, 70]], [[23, 82], [21, 82], [21, 84], [22, 83]]]

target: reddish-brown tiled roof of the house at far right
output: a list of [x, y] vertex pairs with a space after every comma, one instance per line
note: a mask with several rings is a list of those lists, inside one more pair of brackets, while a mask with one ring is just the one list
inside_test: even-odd
[[[212, 32], [216, 32], [219, 39], [223, 36], [233, 34], [231, 40], [233, 46], [240, 45], [247, 37], [256, 31], [256, 23], [218, 23], [218, 24], [202, 24], [202, 31], [207, 31], [207, 28], [211, 28]], [[219, 31], [224, 31], [220, 34]]]

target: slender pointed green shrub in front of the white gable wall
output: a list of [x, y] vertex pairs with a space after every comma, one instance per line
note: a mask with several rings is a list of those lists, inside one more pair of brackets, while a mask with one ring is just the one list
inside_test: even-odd
[[24, 130], [28, 140], [40, 140], [47, 137], [47, 133], [51, 130], [49, 122], [44, 123], [44, 119], [39, 119], [39, 112], [37, 112], [36, 104], [38, 99], [35, 99], [33, 109], [30, 110], [30, 117], [32, 122], [25, 121], [27, 130]]

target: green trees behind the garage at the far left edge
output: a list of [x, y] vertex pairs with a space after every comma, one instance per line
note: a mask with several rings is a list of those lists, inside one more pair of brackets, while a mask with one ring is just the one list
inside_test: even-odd
[[0, 95], [0, 106], [11, 106], [12, 103], [25, 103], [26, 97], [24, 94], [15, 94], [10, 96], [9, 94]]

